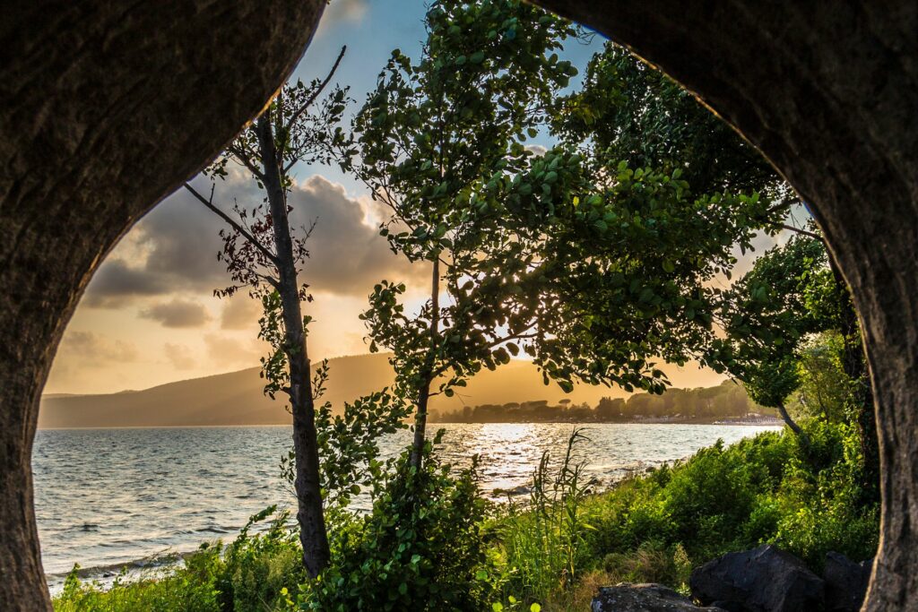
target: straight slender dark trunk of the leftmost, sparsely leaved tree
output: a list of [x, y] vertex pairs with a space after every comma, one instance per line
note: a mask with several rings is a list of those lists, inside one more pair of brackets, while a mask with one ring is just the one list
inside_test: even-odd
[[284, 316], [285, 353], [290, 363], [289, 395], [297, 463], [294, 484], [297, 490], [299, 541], [303, 546], [303, 564], [309, 575], [315, 578], [328, 565], [330, 551], [319, 483], [319, 444], [306, 330], [303, 328], [303, 315], [300, 310], [297, 266], [287, 221], [285, 190], [274, 150], [274, 130], [271, 126], [270, 111], [259, 117], [256, 129], [264, 167], [264, 187], [268, 194], [268, 206], [274, 227], [279, 280], [277, 289], [281, 296]]

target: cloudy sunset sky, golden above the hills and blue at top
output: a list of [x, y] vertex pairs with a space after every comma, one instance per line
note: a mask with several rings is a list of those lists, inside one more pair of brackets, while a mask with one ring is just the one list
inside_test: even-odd
[[[397, 9], [394, 9], [397, 6]], [[392, 49], [418, 56], [424, 38], [421, 0], [335, 0], [295, 77], [324, 75], [341, 45], [348, 51], [337, 81], [362, 102]], [[566, 59], [582, 69], [602, 40], [567, 43]], [[575, 84], [579, 84], [577, 81]], [[543, 139], [542, 145], [551, 142]], [[201, 189], [209, 180], [196, 179]], [[229, 208], [261, 201], [242, 172], [218, 183], [215, 201]], [[310, 352], [316, 358], [367, 352], [357, 315], [383, 278], [416, 289], [426, 268], [411, 269], [378, 236], [379, 211], [362, 185], [335, 168], [301, 167], [291, 195], [295, 225], [318, 219], [305, 280], [315, 302]], [[259, 306], [247, 295], [220, 300], [228, 283], [217, 261], [221, 221], [179, 190], [121, 240], [95, 273], [64, 335], [46, 393], [109, 393], [258, 365]], [[421, 289], [422, 290], [422, 289]], [[709, 373], [700, 384], [716, 384]]]

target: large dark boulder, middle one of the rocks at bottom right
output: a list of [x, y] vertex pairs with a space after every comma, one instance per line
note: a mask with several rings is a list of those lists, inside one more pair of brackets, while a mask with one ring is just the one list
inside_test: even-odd
[[823, 606], [823, 580], [797, 557], [766, 544], [730, 552], [691, 573], [692, 595], [742, 612], [800, 612]]

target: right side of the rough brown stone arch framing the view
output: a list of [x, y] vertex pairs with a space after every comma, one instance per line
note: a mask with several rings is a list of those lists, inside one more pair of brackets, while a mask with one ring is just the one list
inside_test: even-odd
[[811, 203], [851, 285], [879, 424], [866, 610], [918, 601], [918, 3], [536, 0], [686, 85]]

